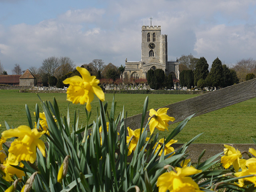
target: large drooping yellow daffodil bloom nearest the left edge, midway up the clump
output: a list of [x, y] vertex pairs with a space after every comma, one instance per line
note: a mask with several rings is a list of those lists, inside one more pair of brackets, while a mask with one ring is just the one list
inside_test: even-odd
[[39, 139], [44, 133], [46, 131], [38, 132], [36, 128], [31, 130], [30, 127], [22, 125], [18, 128], [2, 132], [2, 136], [7, 139], [18, 137], [12, 142], [8, 150], [10, 156], [15, 156], [18, 162], [23, 160], [34, 163], [36, 161], [36, 147], [38, 147], [45, 157], [45, 145]]

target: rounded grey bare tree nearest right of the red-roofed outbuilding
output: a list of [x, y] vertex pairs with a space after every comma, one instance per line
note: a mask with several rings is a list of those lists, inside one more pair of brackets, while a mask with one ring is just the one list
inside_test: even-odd
[[49, 57], [42, 62], [40, 74], [47, 74], [48, 77], [53, 76], [59, 65], [59, 59], [57, 57]]

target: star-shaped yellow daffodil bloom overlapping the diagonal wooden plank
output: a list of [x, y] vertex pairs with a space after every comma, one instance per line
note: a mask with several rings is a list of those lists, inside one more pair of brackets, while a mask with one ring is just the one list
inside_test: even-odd
[[154, 132], [154, 129], [157, 128], [160, 131], [168, 130], [168, 122], [174, 121], [174, 117], [168, 116], [166, 113], [169, 108], [160, 108], [157, 110], [157, 112], [154, 109], [149, 110], [149, 116], [148, 120], [149, 122], [149, 129], [150, 134]]

